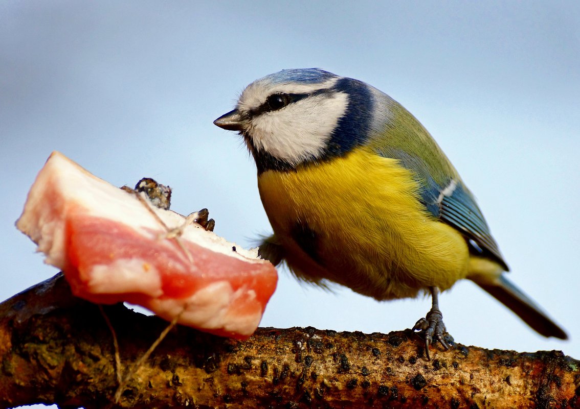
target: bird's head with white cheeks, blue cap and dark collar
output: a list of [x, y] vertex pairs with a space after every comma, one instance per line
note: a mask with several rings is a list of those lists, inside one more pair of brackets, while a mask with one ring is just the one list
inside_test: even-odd
[[318, 68], [282, 70], [248, 85], [235, 109], [213, 123], [240, 132], [259, 172], [295, 169], [364, 144], [379, 94]]

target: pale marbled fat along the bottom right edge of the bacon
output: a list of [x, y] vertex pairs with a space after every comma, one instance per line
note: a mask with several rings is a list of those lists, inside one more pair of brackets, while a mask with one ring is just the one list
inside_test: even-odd
[[[255, 298], [254, 290], [241, 287], [234, 291], [229, 282], [219, 281], [188, 298], [156, 298], [146, 307], [168, 320], [179, 315], [179, 323], [187, 326], [251, 335], [262, 319], [262, 309]], [[251, 302], [255, 308], [240, 311], [240, 302]]]

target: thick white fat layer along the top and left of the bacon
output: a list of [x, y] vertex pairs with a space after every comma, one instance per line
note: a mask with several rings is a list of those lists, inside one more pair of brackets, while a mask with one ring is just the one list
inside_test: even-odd
[[[170, 229], [183, 226], [185, 218], [182, 215], [150, 207]], [[77, 209], [82, 209], [87, 216], [117, 221], [147, 238], [158, 238], [165, 232], [135, 194], [94, 176], [59, 152], [53, 152], [39, 172], [16, 227], [38, 244], [38, 251], [46, 254], [48, 264], [62, 269], [66, 255], [64, 215]], [[205, 231], [197, 223], [187, 225], [181, 238], [229, 257], [265, 262], [258, 258], [258, 249], [244, 250], [213, 232]], [[232, 251], [233, 246], [236, 251]]]

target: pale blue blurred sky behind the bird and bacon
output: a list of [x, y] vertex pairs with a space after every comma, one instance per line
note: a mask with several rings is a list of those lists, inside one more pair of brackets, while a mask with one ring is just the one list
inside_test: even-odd
[[[55, 149], [115, 185], [171, 185], [174, 210], [208, 207], [240, 245], [269, 232], [252, 160], [212, 121], [260, 76], [321, 67], [419, 118], [476, 194], [510, 279], [571, 335], [539, 337], [461, 282], [441, 298], [455, 340], [580, 358], [577, 2], [4, 1], [0, 59], [0, 298], [56, 273], [13, 226]], [[281, 271], [263, 325], [388, 332], [428, 308]]]

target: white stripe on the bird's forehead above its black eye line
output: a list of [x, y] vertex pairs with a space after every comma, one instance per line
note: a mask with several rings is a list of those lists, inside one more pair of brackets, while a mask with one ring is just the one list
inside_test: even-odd
[[338, 80], [339, 77], [334, 77], [324, 82], [307, 84], [299, 82], [272, 83], [267, 79], [258, 79], [248, 85], [242, 92], [237, 108], [240, 111], [250, 111], [262, 105], [271, 94], [307, 94], [319, 89], [330, 88]]

